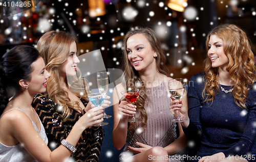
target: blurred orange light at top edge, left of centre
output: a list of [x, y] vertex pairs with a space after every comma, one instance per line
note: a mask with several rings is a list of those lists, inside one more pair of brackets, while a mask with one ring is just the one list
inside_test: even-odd
[[102, 0], [89, 0], [89, 16], [96, 17], [106, 14], [105, 4]]

